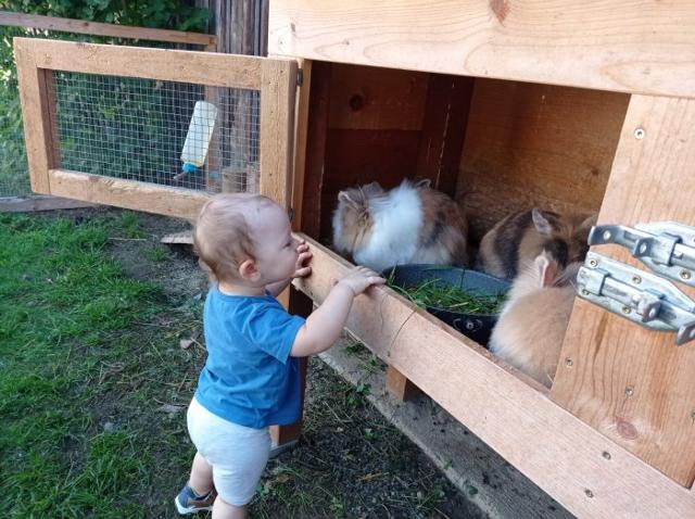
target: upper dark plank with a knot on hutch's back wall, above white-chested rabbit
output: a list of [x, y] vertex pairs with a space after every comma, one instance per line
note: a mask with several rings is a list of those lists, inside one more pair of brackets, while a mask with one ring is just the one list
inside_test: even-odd
[[340, 129], [419, 130], [428, 74], [359, 65], [331, 65], [328, 126]]

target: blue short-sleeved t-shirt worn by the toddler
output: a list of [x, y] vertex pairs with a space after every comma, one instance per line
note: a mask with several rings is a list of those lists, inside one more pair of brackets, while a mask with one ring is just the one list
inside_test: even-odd
[[213, 286], [203, 328], [207, 362], [195, 398], [214, 415], [263, 429], [296, 421], [299, 359], [290, 351], [304, 319], [271, 295], [226, 295]]

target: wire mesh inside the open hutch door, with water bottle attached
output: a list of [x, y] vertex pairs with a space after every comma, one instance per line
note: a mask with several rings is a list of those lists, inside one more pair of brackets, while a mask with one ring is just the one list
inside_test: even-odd
[[258, 190], [258, 91], [56, 72], [55, 98], [62, 169]]

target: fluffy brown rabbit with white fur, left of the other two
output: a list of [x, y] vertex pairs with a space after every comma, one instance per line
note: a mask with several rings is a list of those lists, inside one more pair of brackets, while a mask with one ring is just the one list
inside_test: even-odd
[[466, 265], [467, 232], [458, 205], [429, 180], [341, 191], [333, 214], [336, 250], [377, 271], [405, 263]]

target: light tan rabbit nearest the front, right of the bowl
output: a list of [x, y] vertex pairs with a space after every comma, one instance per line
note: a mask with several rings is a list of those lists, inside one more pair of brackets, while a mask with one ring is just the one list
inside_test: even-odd
[[566, 269], [543, 251], [514, 280], [490, 351], [520, 371], [551, 387], [569, 322], [581, 263]]

